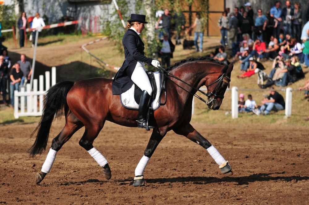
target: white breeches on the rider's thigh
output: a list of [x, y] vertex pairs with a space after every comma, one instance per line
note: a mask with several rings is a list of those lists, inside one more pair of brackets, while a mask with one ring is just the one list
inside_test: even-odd
[[141, 89], [146, 90], [149, 95], [152, 94], [151, 84], [146, 74], [145, 64], [138, 61], [132, 73], [131, 80]]

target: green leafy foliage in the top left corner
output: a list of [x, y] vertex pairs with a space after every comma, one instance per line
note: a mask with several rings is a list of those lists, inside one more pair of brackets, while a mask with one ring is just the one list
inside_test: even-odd
[[[12, 26], [15, 27], [16, 25], [16, 16], [15, 16], [15, 10], [14, 5], [0, 5], [0, 22], [2, 26], [2, 30], [5, 29], [11, 29]], [[3, 37], [12, 37], [12, 32], [5, 32], [2, 33]]]

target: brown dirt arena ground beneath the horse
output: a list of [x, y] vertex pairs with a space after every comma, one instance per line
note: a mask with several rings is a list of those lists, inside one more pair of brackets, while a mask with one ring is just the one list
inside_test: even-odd
[[[52, 126], [49, 145], [64, 126]], [[146, 186], [132, 186], [150, 132], [107, 122], [95, 147], [108, 159], [112, 178], [78, 145], [83, 129], [58, 152], [40, 185], [47, 151], [29, 157], [32, 124], [0, 126], [0, 204], [307, 204], [308, 132], [305, 128], [193, 123], [228, 160], [233, 176], [220, 174], [208, 152], [173, 132], [159, 144], [146, 170]]]

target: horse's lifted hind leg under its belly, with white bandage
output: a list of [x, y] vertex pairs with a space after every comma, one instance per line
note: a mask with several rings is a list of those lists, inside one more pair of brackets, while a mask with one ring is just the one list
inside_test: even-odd
[[112, 178], [112, 172], [109, 168], [107, 159], [92, 145], [95, 138], [103, 128], [105, 120], [100, 125], [85, 125], [85, 132], [79, 140], [79, 145], [82, 146], [90, 154], [92, 158], [103, 168], [103, 176], [106, 179]]

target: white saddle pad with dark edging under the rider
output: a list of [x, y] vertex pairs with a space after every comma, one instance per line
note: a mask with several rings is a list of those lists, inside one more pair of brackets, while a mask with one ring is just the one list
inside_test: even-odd
[[[155, 75], [155, 82], [157, 86], [157, 94], [155, 96], [155, 99], [151, 102], [151, 109], [156, 110], [160, 107], [159, 99], [161, 94], [161, 83], [160, 83], [160, 75], [159, 71], [154, 72]], [[135, 109], [138, 110], [138, 104], [135, 102], [134, 99], [134, 84], [132, 87], [127, 90], [126, 92], [122, 93], [120, 95], [121, 104], [129, 109]]]

